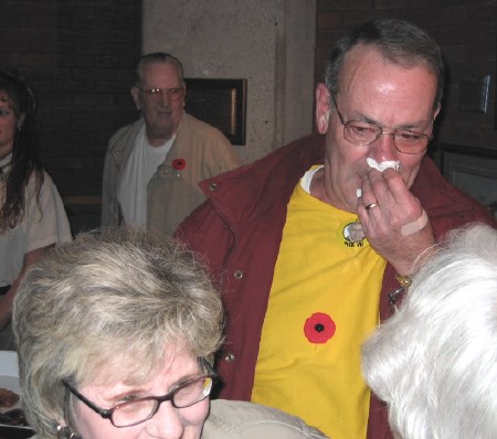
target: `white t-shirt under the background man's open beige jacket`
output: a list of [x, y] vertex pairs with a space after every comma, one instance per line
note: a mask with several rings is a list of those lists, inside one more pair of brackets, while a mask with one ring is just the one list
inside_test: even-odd
[[117, 192], [126, 224], [147, 224], [147, 184], [166, 159], [175, 137], [176, 135], [160, 147], [152, 147], [145, 133], [145, 125], [136, 137]]

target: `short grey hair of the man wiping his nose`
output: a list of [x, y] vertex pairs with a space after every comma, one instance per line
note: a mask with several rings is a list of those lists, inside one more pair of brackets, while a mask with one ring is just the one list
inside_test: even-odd
[[336, 96], [340, 89], [346, 54], [360, 44], [377, 47], [385, 60], [406, 68], [424, 65], [437, 77], [433, 109], [440, 107], [445, 85], [445, 67], [438, 45], [420, 28], [394, 19], [371, 20], [338, 41], [325, 73], [326, 87], [331, 96]]

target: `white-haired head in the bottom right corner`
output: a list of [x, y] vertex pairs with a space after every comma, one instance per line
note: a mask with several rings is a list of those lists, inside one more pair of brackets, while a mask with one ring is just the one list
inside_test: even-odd
[[450, 234], [362, 346], [362, 371], [398, 437], [497, 438], [497, 231]]

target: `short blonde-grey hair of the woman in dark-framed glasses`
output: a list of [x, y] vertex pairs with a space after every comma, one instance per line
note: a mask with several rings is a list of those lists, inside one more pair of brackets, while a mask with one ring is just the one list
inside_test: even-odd
[[56, 437], [60, 419], [74, 425], [62, 379], [140, 383], [176, 347], [212, 362], [222, 314], [203, 265], [170, 238], [106, 229], [51, 250], [28, 271], [13, 311], [30, 425], [42, 438]]

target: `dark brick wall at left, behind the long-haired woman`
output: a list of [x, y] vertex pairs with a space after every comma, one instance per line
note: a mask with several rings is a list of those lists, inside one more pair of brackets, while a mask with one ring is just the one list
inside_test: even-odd
[[99, 195], [107, 142], [136, 118], [137, 0], [2, 0], [0, 68], [17, 68], [40, 104], [42, 157], [62, 195]]

